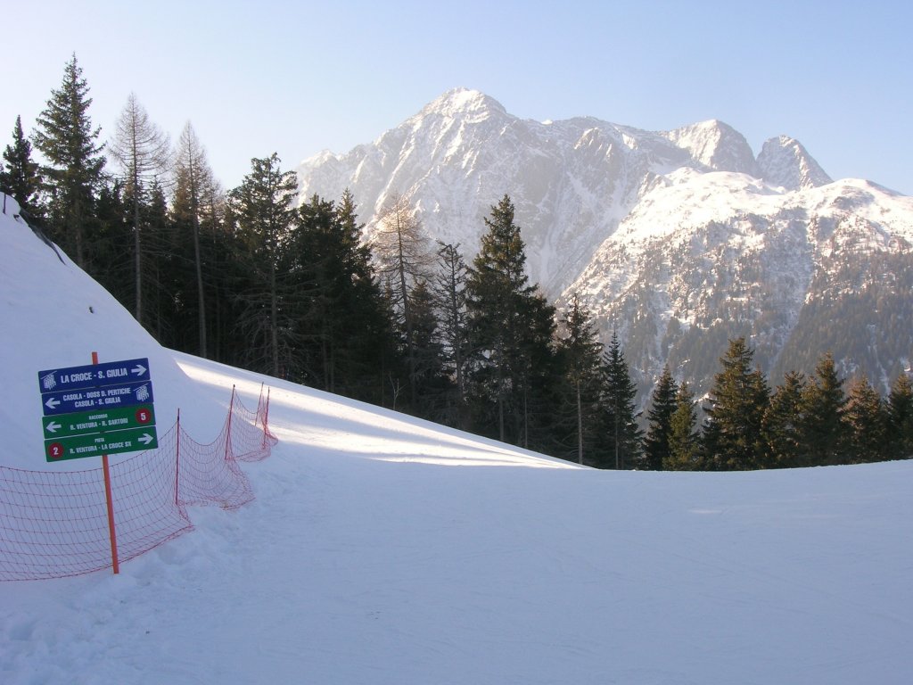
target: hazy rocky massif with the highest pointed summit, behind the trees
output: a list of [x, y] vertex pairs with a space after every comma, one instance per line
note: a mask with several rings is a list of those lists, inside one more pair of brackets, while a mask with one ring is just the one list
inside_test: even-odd
[[406, 195], [428, 233], [461, 244], [467, 256], [483, 217], [509, 194], [530, 277], [557, 293], [614, 231], [645, 181], [689, 159], [656, 133], [586, 118], [523, 121], [477, 91], [452, 90], [373, 144], [321, 154], [298, 171], [302, 200], [350, 188], [369, 233], [387, 198]]

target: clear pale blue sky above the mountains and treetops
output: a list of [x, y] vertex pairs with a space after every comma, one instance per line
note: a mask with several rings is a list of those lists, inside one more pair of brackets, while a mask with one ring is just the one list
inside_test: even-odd
[[465, 86], [536, 120], [648, 130], [719, 119], [755, 153], [785, 133], [834, 178], [913, 195], [913, 4], [845, 2], [7, 3], [0, 147], [76, 53], [102, 136], [128, 95], [216, 176], [371, 142]]

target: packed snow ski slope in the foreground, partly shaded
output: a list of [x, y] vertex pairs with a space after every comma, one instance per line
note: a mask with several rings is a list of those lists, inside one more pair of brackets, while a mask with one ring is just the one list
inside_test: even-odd
[[93, 349], [149, 356], [198, 440], [267, 382], [280, 440], [244, 466], [255, 501], [121, 574], [0, 584], [5, 685], [913, 676], [913, 463], [580, 469], [163, 350], [27, 227], [0, 236], [0, 463], [48, 468], [36, 372]]

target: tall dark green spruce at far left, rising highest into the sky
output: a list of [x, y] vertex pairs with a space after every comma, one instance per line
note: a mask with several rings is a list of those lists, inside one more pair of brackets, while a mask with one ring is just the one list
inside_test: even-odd
[[79, 267], [89, 267], [89, 239], [104, 157], [100, 128], [89, 120], [89, 86], [76, 55], [64, 68], [58, 90], [37, 117], [35, 145], [47, 160], [43, 167], [50, 201], [52, 238], [72, 254]]

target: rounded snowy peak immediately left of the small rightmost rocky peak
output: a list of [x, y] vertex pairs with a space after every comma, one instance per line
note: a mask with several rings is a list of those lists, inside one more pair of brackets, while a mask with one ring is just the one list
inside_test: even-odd
[[758, 165], [748, 141], [728, 123], [711, 119], [664, 133], [665, 137], [687, 150], [697, 161], [713, 171], [758, 175]]

